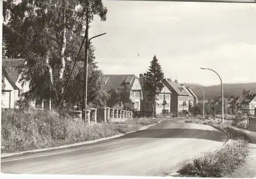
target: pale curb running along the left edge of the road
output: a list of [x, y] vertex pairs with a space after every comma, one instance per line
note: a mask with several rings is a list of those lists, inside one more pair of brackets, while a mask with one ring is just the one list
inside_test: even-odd
[[132, 134], [132, 133], [136, 133], [136, 132], [139, 132], [139, 131], [147, 130], [150, 127], [153, 127], [157, 124], [160, 124], [164, 120], [168, 120], [168, 119], [159, 120], [159, 121], [157, 121], [157, 123], [152, 124], [152, 125], [142, 126], [142, 127], [140, 127], [139, 130], [136, 130], [136, 131], [133, 131], [133, 132], [129, 132], [129, 133], [125, 133], [125, 134], [118, 134], [118, 135], [114, 135], [114, 136], [111, 136], [111, 137], [105, 137], [105, 138], [100, 138], [100, 139], [86, 141], [86, 142], [79, 142], [79, 143], [74, 143], [74, 144], [69, 144], [69, 145], [61, 145], [61, 146], [58, 146], [58, 147], [28, 150], [28, 151], [23, 151], [23, 152], [18, 152], [18, 153], [1, 154], [1, 159], [8, 159], [8, 158], [11, 158], [11, 157], [18, 157], [18, 156], [23, 156], [23, 155], [27, 155], [27, 154], [35, 154], [37, 152], [39, 153], [39, 152], [44, 152], [44, 151], [55, 151], [55, 150], [59, 150], [59, 149], [68, 149], [68, 148], [82, 146], [82, 145], [86, 145], [86, 144], [93, 144], [93, 143], [96, 143], [96, 142], [115, 139], [115, 138], [122, 137], [122, 136], [127, 135], [127, 134]]

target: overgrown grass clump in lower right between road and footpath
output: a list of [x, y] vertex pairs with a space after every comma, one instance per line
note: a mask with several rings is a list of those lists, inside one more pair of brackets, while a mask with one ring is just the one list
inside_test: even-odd
[[248, 153], [249, 147], [245, 140], [231, 140], [218, 150], [183, 161], [178, 173], [183, 176], [223, 177], [242, 166]]

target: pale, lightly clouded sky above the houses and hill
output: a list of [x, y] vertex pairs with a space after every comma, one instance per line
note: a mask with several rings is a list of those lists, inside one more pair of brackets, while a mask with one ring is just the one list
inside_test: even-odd
[[103, 1], [89, 36], [104, 74], [147, 71], [156, 55], [165, 78], [218, 85], [256, 82], [255, 4]]

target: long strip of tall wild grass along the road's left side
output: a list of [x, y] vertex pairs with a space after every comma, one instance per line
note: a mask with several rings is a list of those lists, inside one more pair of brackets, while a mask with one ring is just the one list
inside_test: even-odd
[[138, 130], [156, 119], [135, 119], [116, 123], [85, 126], [82, 120], [59, 115], [54, 111], [2, 113], [2, 153], [56, 147], [111, 137]]

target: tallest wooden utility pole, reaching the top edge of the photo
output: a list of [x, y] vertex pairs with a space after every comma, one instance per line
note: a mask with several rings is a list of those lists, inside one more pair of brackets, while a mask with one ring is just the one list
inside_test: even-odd
[[84, 124], [86, 124], [86, 111], [87, 111], [87, 76], [88, 76], [88, 29], [89, 29], [89, 0], [87, 0], [86, 9], [86, 47], [85, 47], [85, 58], [84, 58], [84, 73], [83, 73], [83, 93], [82, 93], [82, 119]]

